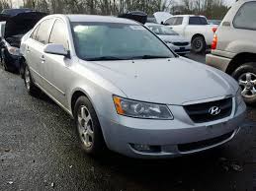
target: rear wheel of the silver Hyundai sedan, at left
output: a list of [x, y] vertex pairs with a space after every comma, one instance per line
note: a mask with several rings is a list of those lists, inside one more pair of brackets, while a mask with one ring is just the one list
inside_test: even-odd
[[25, 64], [24, 66], [24, 84], [25, 87], [27, 89], [27, 92], [31, 95], [31, 96], [38, 96], [40, 93], [40, 90], [38, 87], [36, 87], [36, 85], [33, 82], [33, 79], [31, 77], [31, 72], [30, 69], [28, 67], [27, 64]]

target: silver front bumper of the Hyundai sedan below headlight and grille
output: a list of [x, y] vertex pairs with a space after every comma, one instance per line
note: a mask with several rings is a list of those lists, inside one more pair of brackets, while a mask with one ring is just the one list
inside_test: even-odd
[[[242, 103], [231, 117], [200, 124], [195, 124], [182, 106], [172, 105], [170, 109], [174, 120], [122, 116], [120, 122], [115, 122], [99, 117], [108, 148], [140, 159], [174, 158], [205, 151], [230, 141], [238, 133], [246, 105]], [[139, 152], [132, 148], [133, 144], [159, 147], [160, 151]]]

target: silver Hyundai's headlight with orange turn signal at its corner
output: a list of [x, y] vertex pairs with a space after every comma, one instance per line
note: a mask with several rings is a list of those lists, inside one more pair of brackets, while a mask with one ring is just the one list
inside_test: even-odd
[[130, 100], [113, 96], [118, 114], [145, 119], [173, 119], [167, 105]]

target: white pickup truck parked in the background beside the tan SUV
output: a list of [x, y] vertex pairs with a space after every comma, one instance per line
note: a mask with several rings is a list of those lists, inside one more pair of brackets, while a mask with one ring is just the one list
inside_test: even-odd
[[191, 41], [192, 50], [196, 53], [205, 52], [206, 48], [211, 46], [217, 28], [215, 25], [209, 25], [206, 17], [195, 15], [172, 16], [163, 24]]

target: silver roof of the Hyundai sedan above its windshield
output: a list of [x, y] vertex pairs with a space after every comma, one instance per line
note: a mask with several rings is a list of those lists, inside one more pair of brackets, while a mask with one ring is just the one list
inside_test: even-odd
[[96, 15], [66, 15], [70, 22], [101, 22], [101, 23], [121, 23], [121, 24], [131, 24], [139, 25], [138, 23], [123, 19], [116, 18], [113, 16], [96, 16]]

